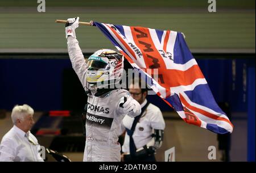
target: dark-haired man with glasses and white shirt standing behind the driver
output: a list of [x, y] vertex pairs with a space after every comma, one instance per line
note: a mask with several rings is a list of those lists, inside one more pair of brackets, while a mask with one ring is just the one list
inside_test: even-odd
[[[144, 84], [144, 85], [143, 85]], [[146, 83], [135, 79], [129, 86], [129, 92], [142, 107], [141, 115], [125, 116], [121, 123], [121, 132], [125, 133], [122, 145], [121, 161], [154, 162], [155, 151], [163, 141], [165, 123], [162, 112], [146, 99]]]

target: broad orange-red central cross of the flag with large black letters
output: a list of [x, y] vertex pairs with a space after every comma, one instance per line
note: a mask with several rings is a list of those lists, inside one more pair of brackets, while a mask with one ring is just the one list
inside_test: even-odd
[[[157, 82], [159, 85], [163, 86], [167, 90], [170, 90], [170, 87], [191, 85], [196, 79], [204, 78], [204, 75], [201, 73], [198, 65], [193, 65], [185, 71], [166, 69], [166, 64], [164, 63], [163, 58], [155, 48], [154, 42], [151, 39], [149, 29], [143, 27], [131, 27], [131, 31], [133, 34], [134, 43], [143, 54], [146, 67], [151, 68], [151, 65], [154, 65], [155, 68], [158, 68]], [[170, 32], [167, 32], [165, 38], [168, 38], [168, 35], [170, 35]], [[167, 44], [168, 40], [165, 39], [165, 41], [165, 44]], [[153, 60], [152, 57], [155, 59]], [[153, 74], [151, 73], [149, 75], [152, 77]]]

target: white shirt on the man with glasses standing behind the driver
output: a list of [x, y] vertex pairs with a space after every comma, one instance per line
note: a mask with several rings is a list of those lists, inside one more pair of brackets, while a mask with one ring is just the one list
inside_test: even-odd
[[[144, 107], [147, 103], [147, 100], [145, 99], [144, 102], [141, 104], [141, 107]], [[133, 125], [134, 117], [125, 116], [122, 120], [121, 124], [121, 130], [131, 129], [131, 126]], [[154, 140], [152, 140], [152, 130], [153, 129], [159, 129], [164, 130], [166, 124], [164, 123], [162, 112], [158, 107], [156, 107], [154, 104], [148, 104], [148, 107], [143, 112], [143, 115], [139, 119], [139, 122], [137, 123], [134, 133], [133, 133], [133, 140], [135, 143], [135, 146], [138, 150], [140, 150], [141, 147], [148, 144], [148, 146], [154, 145]], [[130, 136], [125, 133], [125, 141], [123, 142], [122, 151], [124, 153], [130, 152]]]

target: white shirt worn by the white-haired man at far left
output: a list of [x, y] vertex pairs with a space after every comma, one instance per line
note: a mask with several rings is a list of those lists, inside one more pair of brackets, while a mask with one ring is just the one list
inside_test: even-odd
[[0, 162], [43, 162], [39, 150], [36, 137], [30, 131], [25, 133], [14, 125], [2, 138]]

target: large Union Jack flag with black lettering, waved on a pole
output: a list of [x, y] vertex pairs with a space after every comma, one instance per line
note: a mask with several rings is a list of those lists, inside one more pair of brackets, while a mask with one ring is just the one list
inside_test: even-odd
[[[134, 68], [151, 79], [146, 80], [147, 84], [186, 123], [215, 133], [232, 133], [233, 124], [218, 107], [180, 32], [97, 22], [93, 25]], [[154, 72], [146, 69], [158, 69], [158, 81], [152, 78]]]

